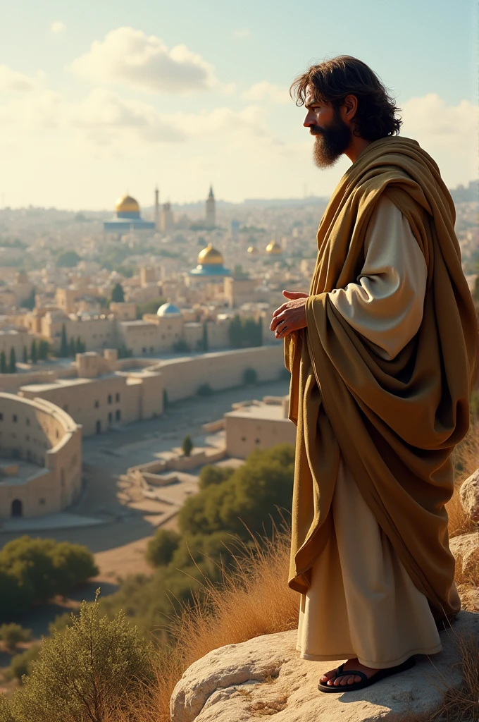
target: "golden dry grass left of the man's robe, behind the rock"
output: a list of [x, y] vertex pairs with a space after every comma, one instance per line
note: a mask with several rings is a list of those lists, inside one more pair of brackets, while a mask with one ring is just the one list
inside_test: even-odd
[[273, 539], [252, 536], [251, 547], [237, 539], [229, 545], [238, 549], [236, 567], [222, 570], [220, 585], [204, 578], [203, 599], [196, 595], [193, 606], [185, 606], [172, 621], [175, 642], [159, 650], [157, 687], [151, 698], [136, 705], [136, 722], [170, 722], [170, 697], [176, 683], [190, 664], [208, 652], [296, 629], [299, 596], [287, 585], [289, 539], [289, 529], [284, 529], [275, 530]]

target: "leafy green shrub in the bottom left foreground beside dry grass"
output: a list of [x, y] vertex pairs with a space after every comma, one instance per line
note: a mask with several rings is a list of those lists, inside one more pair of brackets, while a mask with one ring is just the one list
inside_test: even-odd
[[[98, 593], [97, 593], [98, 594]], [[10, 702], [16, 722], [114, 720], [154, 682], [152, 648], [123, 612], [100, 615], [97, 599], [45, 639], [29, 677]], [[0, 718], [1, 719], [1, 718]]]

